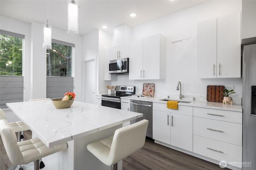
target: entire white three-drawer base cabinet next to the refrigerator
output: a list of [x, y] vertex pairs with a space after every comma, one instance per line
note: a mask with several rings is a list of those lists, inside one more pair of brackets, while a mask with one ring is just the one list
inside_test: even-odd
[[194, 107], [193, 115], [194, 153], [242, 162], [242, 112]]

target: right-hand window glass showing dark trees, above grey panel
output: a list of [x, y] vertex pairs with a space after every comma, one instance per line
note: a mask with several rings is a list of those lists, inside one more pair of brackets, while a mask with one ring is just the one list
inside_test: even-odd
[[47, 76], [72, 76], [72, 49], [74, 44], [52, 39], [52, 49], [46, 51]]

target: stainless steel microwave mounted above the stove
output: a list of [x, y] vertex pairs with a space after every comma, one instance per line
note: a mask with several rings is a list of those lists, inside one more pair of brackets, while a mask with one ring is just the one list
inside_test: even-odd
[[110, 60], [110, 74], [129, 74], [129, 58]]

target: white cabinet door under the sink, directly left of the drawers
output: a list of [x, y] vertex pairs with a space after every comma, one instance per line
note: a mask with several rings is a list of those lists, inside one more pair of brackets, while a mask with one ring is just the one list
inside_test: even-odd
[[171, 113], [171, 145], [193, 151], [193, 116]]

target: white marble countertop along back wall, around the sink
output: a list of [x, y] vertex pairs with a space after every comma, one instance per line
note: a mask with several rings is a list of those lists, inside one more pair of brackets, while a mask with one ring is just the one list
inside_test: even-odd
[[[125, 96], [125, 97], [121, 97], [121, 99], [142, 100], [147, 102], [157, 102], [157, 103], [166, 104], [166, 101], [161, 101], [164, 98], [157, 98], [157, 97], [142, 98], [142, 97], [134, 97], [134, 96]], [[225, 105], [219, 102], [202, 102], [202, 101], [178, 100], [178, 99], [170, 99], [170, 100], [191, 102], [191, 103], [182, 103], [182, 102], [178, 103], [178, 105], [183, 105], [183, 106], [203, 107], [203, 108], [209, 108], [209, 109], [220, 109], [220, 110], [229, 110], [229, 111], [238, 111], [238, 112], [243, 111], [241, 104]]]

